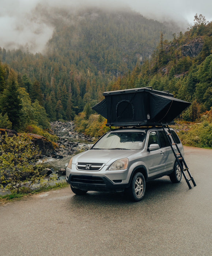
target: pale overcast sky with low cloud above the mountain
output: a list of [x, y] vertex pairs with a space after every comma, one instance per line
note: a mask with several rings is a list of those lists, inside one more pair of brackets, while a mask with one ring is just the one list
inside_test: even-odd
[[[77, 3], [76, 3], [77, 2]], [[43, 11], [50, 7], [97, 6], [110, 9], [125, 7], [157, 20], [187, 20], [202, 14], [212, 20], [212, 0], [0, 0], [0, 47], [8, 49], [25, 46], [33, 52], [42, 52], [51, 37], [53, 27], [41, 18], [32, 19], [37, 4]]]

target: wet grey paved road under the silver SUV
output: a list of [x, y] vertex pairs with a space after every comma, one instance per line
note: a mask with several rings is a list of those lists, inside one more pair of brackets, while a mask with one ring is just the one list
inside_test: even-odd
[[43, 192], [0, 206], [0, 255], [212, 255], [212, 150], [185, 147], [197, 183], [149, 182], [123, 193]]

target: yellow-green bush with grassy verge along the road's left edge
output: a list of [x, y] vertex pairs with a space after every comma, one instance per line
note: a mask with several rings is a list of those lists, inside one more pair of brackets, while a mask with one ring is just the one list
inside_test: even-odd
[[[27, 135], [9, 137], [6, 133], [0, 137], [0, 189], [10, 191], [0, 195], [0, 202], [67, 185], [67, 182], [52, 185], [57, 180], [56, 174], [45, 179], [44, 167], [38, 163], [40, 155]], [[34, 184], [39, 184], [39, 188], [33, 187]]]

